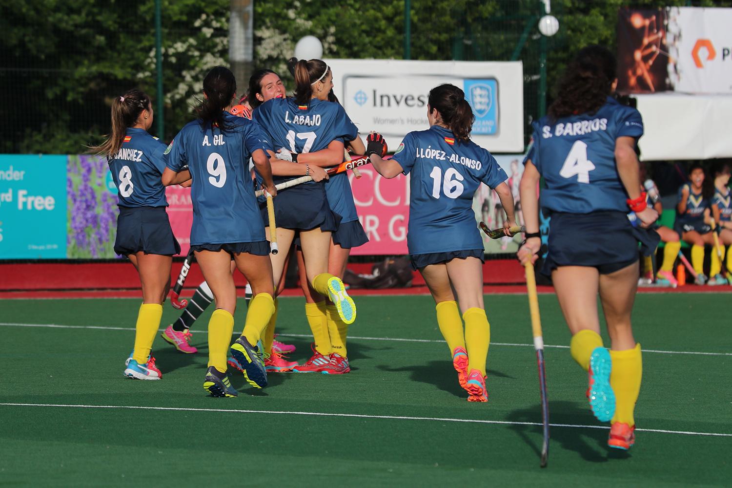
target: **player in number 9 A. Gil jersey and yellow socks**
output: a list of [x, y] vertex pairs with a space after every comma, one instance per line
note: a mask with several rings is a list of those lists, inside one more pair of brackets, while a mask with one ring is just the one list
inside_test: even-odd
[[203, 388], [212, 396], [237, 394], [226, 375], [236, 310], [232, 257], [252, 285], [254, 297], [231, 354], [242, 365], [247, 382], [256, 388], [267, 383], [260, 339], [275, 311], [269, 243], [248, 168], [251, 157], [266, 191], [277, 194], [266, 152], [269, 144], [257, 125], [225, 111], [235, 92], [236, 80], [230, 70], [217, 66], [209, 71], [203, 80], [198, 119], [183, 127], [166, 149], [168, 167], [163, 174], [166, 185], [185, 164], [193, 174], [190, 245], [216, 300], [209, 321], [209, 369], [203, 380]]

